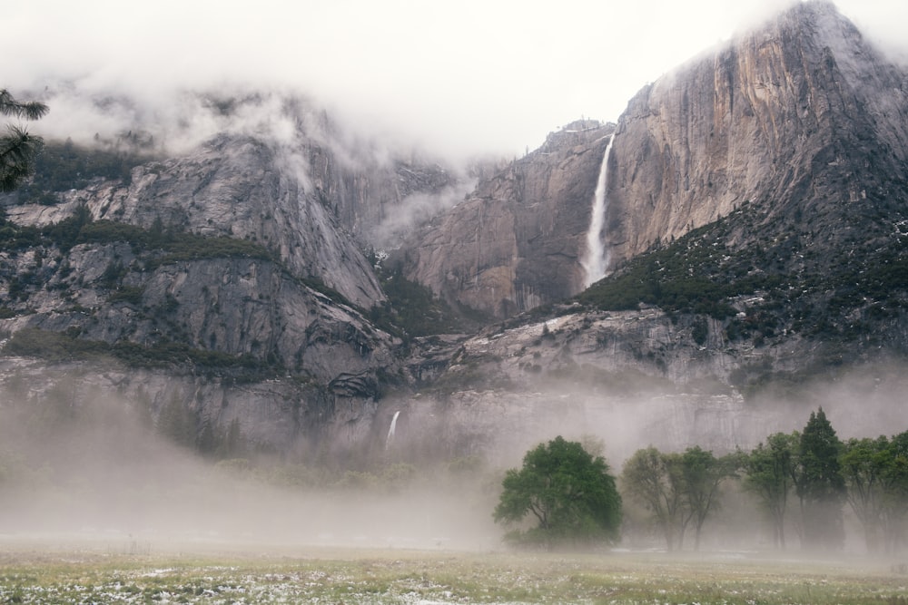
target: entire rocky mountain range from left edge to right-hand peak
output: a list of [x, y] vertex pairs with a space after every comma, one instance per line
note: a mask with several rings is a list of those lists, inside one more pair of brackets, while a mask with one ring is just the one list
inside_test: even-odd
[[[456, 171], [293, 103], [290, 136], [222, 132], [25, 190], [0, 225], [4, 401], [104, 393], [200, 450], [242, 434], [360, 464], [509, 464], [553, 431], [619, 457], [730, 449], [802, 425], [795, 400], [858, 401], [856, 434], [886, 432], [908, 352], [906, 94], [809, 2], [647, 85], [617, 124], [484, 167], [466, 197]], [[584, 289], [606, 173], [609, 275]], [[448, 329], [444, 302], [484, 327], [407, 332], [420, 314]], [[846, 378], [847, 396], [817, 383]]]

